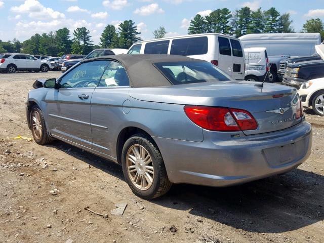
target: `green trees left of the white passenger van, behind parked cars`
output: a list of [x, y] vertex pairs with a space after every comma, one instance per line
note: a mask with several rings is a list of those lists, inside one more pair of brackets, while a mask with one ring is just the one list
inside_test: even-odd
[[100, 37], [100, 44], [94, 45], [90, 30], [78, 27], [70, 34], [68, 28], [61, 28], [55, 32], [34, 34], [20, 43], [17, 39], [8, 42], [0, 40], [0, 53], [28, 53], [31, 55], [62, 56], [64, 54], [89, 54], [98, 48], [124, 48], [129, 49], [133, 43], [141, 41], [138, 36], [135, 22], [125, 20], [116, 29], [108, 24]]

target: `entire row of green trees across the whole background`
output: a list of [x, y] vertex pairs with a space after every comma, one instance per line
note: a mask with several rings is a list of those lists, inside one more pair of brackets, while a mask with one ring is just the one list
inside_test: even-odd
[[[250, 33], [291, 33], [293, 21], [289, 13], [281, 14], [270, 8], [262, 11], [261, 8], [252, 11], [244, 7], [234, 12], [227, 8], [216, 9], [207, 16], [197, 14], [190, 21], [188, 34], [196, 33], [223, 33], [239, 37]], [[324, 39], [324, 23], [320, 19], [310, 19], [305, 22], [301, 32], [318, 32]], [[165, 37], [165, 27], [159, 26], [153, 31], [154, 38]], [[129, 49], [134, 43], [141, 41], [141, 32], [137, 30], [135, 22], [125, 20], [117, 28], [108, 24], [100, 36], [99, 45], [93, 45], [90, 30], [78, 27], [72, 32], [68, 28], [61, 28], [55, 32], [34, 34], [23, 43], [16, 38], [13, 41], [0, 40], [0, 53], [29, 53], [32, 55], [62, 56], [64, 54], [87, 55], [98, 48], [124, 48]]]

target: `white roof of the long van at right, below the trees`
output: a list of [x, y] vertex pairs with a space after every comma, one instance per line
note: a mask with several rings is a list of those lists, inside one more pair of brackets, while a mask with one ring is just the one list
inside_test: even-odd
[[241, 42], [260, 41], [261, 39], [319, 39], [319, 33], [263, 33], [263, 34], [246, 34], [240, 36]]

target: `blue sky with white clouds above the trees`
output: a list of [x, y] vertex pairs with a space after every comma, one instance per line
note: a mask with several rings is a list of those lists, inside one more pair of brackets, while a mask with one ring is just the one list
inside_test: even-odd
[[324, 0], [0, 0], [0, 39], [25, 41], [35, 33], [63, 27], [72, 32], [85, 26], [98, 44], [107, 24], [117, 27], [129, 19], [143, 39], [152, 39], [159, 26], [166, 28], [167, 36], [176, 36], [187, 34], [190, 19], [197, 13], [206, 16], [218, 8], [234, 11], [245, 6], [290, 13], [296, 32], [310, 18], [324, 20]]

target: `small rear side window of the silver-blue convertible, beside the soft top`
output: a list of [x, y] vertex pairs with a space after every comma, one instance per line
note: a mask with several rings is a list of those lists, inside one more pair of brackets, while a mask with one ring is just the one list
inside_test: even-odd
[[99, 87], [130, 86], [125, 68], [118, 62], [110, 61], [103, 73]]

